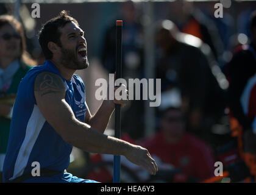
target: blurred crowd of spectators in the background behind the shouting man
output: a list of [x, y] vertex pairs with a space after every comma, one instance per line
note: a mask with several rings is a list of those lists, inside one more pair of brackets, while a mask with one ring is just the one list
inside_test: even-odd
[[[116, 6], [119, 14], [113, 21], [123, 19], [123, 78], [146, 77], [149, 56], [144, 45], [152, 41], [152, 71], [154, 79], [161, 79], [162, 103], [154, 108], [154, 135], [146, 137], [149, 121], [144, 101], [130, 101], [122, 111], [122, 138], [146, 147], [160, 168], [151, 180], [140, 173], [133, 182], [221, 182], [221, 177], [214, 179], [217, 161], [229, 182], [256, 181], [256, 12], [240, 2], [236, 14], [232, 6], [237, 2], [233, 2], [224, 8], [223, 18], [215, 18], [215, 3], [159, 3], [150, 24], [151, 40], [145, 36], [145, 3], [127, 1]], [[44, 57], [24, 19], [15, 19], [7, 5], [0, 8], [1, 172], [18, 83]], [[116, 28], [111, 24], [101, 32], [96, 55], [106, 73], [115, 72]], [[99, 163], [110, 159], [107, 155], [85, 153], [85, 157], [91, 172], [81, 173], [84, 177], [111, 182], [107, 166], [93, 172], [93, 165], [102, 166]], [[140, 172], [125, 159], [122, 163], [128, 174]]]

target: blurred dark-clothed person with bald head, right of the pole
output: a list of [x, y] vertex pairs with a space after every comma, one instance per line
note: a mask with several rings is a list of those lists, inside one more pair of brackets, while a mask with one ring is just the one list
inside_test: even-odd
[[[208, 143], [213, 143], [212, 126], [224, 113], [225, 91], [201, 51], [201, 40], [179, 32], [172, 21], [157, 24], [155, 74], [162, 79], [162, 91], [178, 87], [182, 94], [187, 127]], [[189, 41], [188, 41], [189, 40]]]

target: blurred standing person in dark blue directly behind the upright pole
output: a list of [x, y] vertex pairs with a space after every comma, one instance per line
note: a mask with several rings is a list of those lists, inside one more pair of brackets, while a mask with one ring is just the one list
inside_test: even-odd
[[[140, 9], [133, 1], [119, 5], [123, 20], [122, 35], [122, 77], [127, 80], [143, 78], [143, 26], [140, 19]], [[118, 19], [117, 18], [117, 19]], [[115, 24], [114, 22], [112, 24]], [[108, 73], [115, 71], [116, 26], [110, 26], [104, 35], [101, 63]], [[127, 86], [128, 88], [129, 86]], [[134, 97], [135, 99], [135, 97]], [[140, 110], [140, 113], [138, 112]], [[143, 136], [143, 101], [134, 100], [122, 109], [121, 129], [132, 138]]]

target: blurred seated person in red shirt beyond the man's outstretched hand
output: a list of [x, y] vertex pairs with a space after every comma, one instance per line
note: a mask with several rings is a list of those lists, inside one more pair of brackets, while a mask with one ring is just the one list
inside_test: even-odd
[[201, 182], [214, 176], [213, 153], [206, 143], [186, 132], [181, 108], [166, 108], [160, 118], [160, 131], [142, 145], [163, 163], [182, 170], [183, 179], [174, 177], [174, 182]]

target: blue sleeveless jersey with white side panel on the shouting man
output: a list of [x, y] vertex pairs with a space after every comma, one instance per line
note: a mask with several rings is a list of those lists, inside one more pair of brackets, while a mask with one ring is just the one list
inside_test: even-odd
[[[34, 81], [38, 73], [48, 71], [62, 77], [55, 66], [46, 60], [43, 65], [30, 69], [21, 80], [13, 107], [9, 143], [4, 161], [3, 181], [8, 182], [31, 173], [37, 161], [40, 168], [64, 171], [69, 165], [72, 146], [44, 119], [34, 96]], [[85, 120], [85, 87], [82, 79], [73, 74], [71, 80], [62, 77], [66, 87], [65, 101], [76, 118]]]

